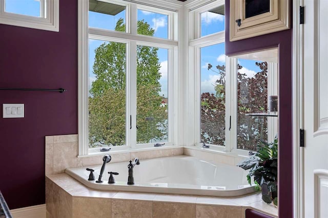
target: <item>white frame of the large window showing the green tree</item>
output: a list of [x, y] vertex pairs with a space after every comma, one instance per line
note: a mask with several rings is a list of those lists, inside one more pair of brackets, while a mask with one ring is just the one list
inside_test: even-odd
[[[137, 9], [149, 10], [149, 5], [145, 6], [136, 3], [128, 3], [127, 1], [120, 0], [101, 0], [103, 2], [108, 2], [112, 4], [124, 5], [126, 8], [126, 26], [127, 32], [117, 32], [111, 30], [104, 30], [98, 28], [91, 28], [88, 26], [89, 20], [89, 1], [79, 1], [78, 2], [78, 155], [92, 155], [93, 152], [99, 152], [99, 148], [89, 149], [88, 140], [88, 92], [89, 92], [89, 39], [98, 39], [104, 41], [115, 41], [127, 44], [126, 52], [126, 76], [127, 76], [127, 105], [126, 105], [126, 145], [111, 147], [111, 151], [123, 151], [123, 150], [134, 150], [134, 149], [144, 149], [153, 147], [153, 143], [146, 144], [136, 144], [137, 134], [136, 134], [136, 47], [137, 45], [154, 46], [162, 49], [168, 49], [168, 111], [169, 111], [169, 142], [166, 146], [177, 146], [176, 143], [176, 124], [173, 119], [176, 114], [176, 107], [173, 102], [176, 101], [176, 93], [178, 87], [177, 83], [173, 81], [177, 78], [178, 69], [178, 42], [177, 42], [177, 31], [176, 24], [177, 13], [172, 10], [168, 12], [167, 10], [157, 8], [156, 12], [161, 14], [169, 15], [168, 23], [172, 21], [172, 26], [170, 27], [169, 39], [162, 39], [157, 37], [143, 36], [137, 34]], [[160, 1], [165, 2], [165, 1]], [[161, 6], [161, 3], [158, 4]], [[163, 6], [166, 6], [163, 4]], [[154, 6], [156, 7], [156, 6]], [[147, 8], [147, 9], [146, 9]], [[135, 19], [133, 19], [135, 17]], [[173, 20], [175, 22], [173, 22]], [[175, 39], [172, 40], [172, 39]], [[130, 98], [128, 98], [130, 96]], [[132, 116], [132, 129], [130, 129], [130, 115]]]

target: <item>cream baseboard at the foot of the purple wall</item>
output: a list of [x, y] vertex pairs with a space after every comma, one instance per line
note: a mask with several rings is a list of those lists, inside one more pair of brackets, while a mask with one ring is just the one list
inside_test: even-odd
[[10, 210], [13, 218], [46, 218], [46, 204]]

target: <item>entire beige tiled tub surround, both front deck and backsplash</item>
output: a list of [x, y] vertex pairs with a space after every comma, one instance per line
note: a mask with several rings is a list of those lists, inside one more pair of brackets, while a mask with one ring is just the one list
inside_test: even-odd
[[[250, 208], [277, 217], [278, 210], [265, 204], [259, 193], [241, 197], [165, 195], [124, 191], [101, 191], [86, 187], [67, 174], [66, 168], [101, 164], [99, 154], [77, 157], [77, 135], [46, 136], [47, 217], [234, 217], [244, 218]], [[189, 155], [206, 161], [235, 165], [242, 157], [194, 148], [160, 148], [152, 151], [111, 152], [113, 162], [134, 157]], [[139, 167], [139, 166], [136, 166]]]

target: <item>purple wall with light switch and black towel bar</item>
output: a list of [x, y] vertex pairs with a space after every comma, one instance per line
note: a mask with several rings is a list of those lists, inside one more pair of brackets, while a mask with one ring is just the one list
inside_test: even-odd
[[[60, 1], [59, 32], [0, 25], [0, 190], [10, 209], [45, 203], [45, 136], [77, 134], [77, 1]], [[2, 118], [24, 103], [25, 118]]]

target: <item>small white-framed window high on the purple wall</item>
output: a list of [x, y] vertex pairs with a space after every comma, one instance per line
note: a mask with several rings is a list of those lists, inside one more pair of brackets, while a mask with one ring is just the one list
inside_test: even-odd
[[0, 23], [59, 31], [59, 0], [0, 0]]

